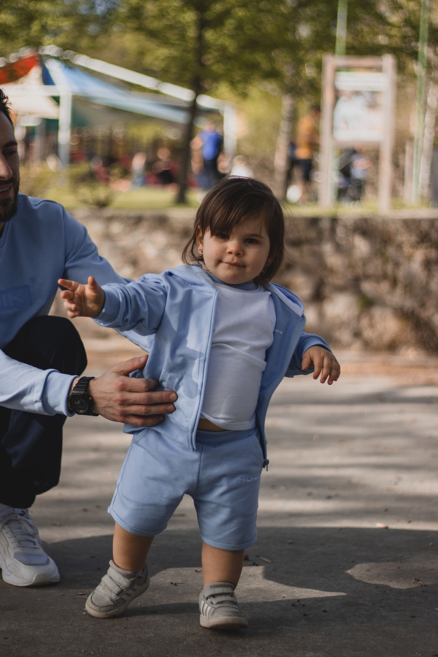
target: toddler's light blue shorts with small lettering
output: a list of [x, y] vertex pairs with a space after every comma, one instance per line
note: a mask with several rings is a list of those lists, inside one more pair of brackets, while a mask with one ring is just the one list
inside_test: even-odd
[[196, 451], [148, 428], [135, 434], [108, 512], [127, 532], [163, 532], [185, 493], [201, 538], [222, 550], [255, 542], [263, 453], [257, 429], [200, 431]]

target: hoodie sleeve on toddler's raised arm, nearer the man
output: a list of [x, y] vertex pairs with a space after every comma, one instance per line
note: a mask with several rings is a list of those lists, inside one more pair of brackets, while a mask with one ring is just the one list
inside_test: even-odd
[[162, 321], [167, 288], [160, 277], [142, 276], [128, 285], [104, 285], [105, 303], [95, 322], [121, 331], [134, 330], [147, 336], [156, 333]]

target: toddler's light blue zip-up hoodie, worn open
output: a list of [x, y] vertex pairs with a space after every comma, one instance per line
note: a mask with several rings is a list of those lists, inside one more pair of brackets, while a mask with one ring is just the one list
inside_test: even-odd
[[[303, 304], [295, 294], [276, 284], [265, 287], [272, 294], [276, 322], [255, 416], [267, 464], [265, 417], [274, 390], [284, 376], [313, 372], [313, 368], [301, 369], [304, 351], [315, 344], [326, 349], [328, 345], [317, 335], [303, 333]], [[128, 285], [108, 284], [103, 289], [105, 304], [95, 321], [150, 336], [148, 362], [135, 375], [154, 378], [160, 382], [158, 390], [175, 390], [178, 395], [175, 412], [165, 415], [154, 430], [196, 450], [215, 324], [217, 290], [213, 281], [201, 265], [181, 265], [159, 275], [146, 274]], [[125, 424], [124, 430], [131, 434], [139, 428]]]

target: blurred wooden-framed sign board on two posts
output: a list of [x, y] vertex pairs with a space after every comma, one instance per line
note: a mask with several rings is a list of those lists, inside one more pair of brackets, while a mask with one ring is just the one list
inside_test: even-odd
[[336, 202], [334, 149], [374, 148], [379, 150], [378, 207], [382, 212], [391, 209], [396, 74], [393, 55], [324, 56], [318, 193], [322, 208]]

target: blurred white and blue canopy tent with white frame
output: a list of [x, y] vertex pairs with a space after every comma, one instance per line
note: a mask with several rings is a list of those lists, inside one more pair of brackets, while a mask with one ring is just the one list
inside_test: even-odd
[[[23, 57], [28, 56], [28, 49], [20, 52], [23, 52]], [[58, 158], [62, 166], [70, 162], [72, 103], [75, 99], [175, 124], [188, 121], [188, 108], [194, 99], [190, 89], [73, 51], [62, 51], [57, 46], [41, 47], [39, 56], [41, 66], [34, 66], [26, 76], [6, 83], [2, 88], [17, 114], [58, 119]], [[12, 61], [17, 58], [14, 55]], [[127, 85], [156, 93], [131, 91]], [[55, 98], [59, 99], [59, 104]], [[223, 116], [224, 150], [231, 160], [236, 152], [234, 105], [206, 95], [200, 95], [196, 104], [204, 116], [213, 112]]]

